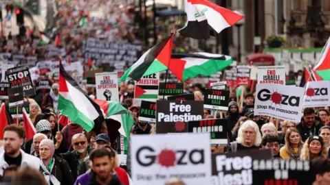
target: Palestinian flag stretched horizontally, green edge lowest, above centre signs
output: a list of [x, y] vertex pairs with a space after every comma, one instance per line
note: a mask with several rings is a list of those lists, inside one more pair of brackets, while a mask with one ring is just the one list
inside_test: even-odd
[[185, 82], [188, 78], [197, 75], [210, 76], [218, 71], [225, 69], [232, 64], [230, 56], [224, 56], [212, 53], [189, 53], [175, 54], [170, 59], [170, 64], [184, 64], [184, 70], [172, 73], [177, 76], [181, 82]]

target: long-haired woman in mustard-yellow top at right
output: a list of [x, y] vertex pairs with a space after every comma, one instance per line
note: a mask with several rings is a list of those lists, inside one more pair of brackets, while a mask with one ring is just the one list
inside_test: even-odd
[[303, 145], [299, 131], [296, 128], [289, 128], [285, 134], [285, 146], [280, 149], [281, 158], [298, 159]]

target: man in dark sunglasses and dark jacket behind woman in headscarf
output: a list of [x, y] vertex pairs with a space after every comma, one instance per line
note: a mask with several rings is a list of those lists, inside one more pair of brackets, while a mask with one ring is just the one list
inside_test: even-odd
[[71, 168], [72, 176], [74, 180], [77, 179], [80, 174], [80, 167], [83, 165], [85, 158], [89, 156], [88, 142], [85, 134], [74, 134], [72, 136], [72, 147], [74, 151], [68, 151], [67, 153], [61, 154]]

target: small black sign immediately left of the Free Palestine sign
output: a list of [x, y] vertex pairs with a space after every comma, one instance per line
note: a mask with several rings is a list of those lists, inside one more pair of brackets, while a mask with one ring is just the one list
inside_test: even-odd
[[156, 123], [156, 103], [152, 101], [141, 101], [139, 121]]

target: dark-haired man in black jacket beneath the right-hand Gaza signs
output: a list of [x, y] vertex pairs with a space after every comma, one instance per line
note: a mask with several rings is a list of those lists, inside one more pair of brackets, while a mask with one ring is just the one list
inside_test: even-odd
[[305, 108], [303, 111], [303, 118], [300, 123], [296, 125], [297, 130], [300, 132], [301, 138], [305, 142], [309, 136], [318, 136], [320, 127], [323, 126], [321, 119], [315, 115], [313, 108]]

